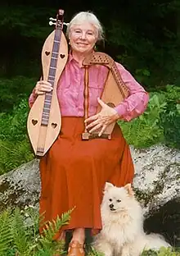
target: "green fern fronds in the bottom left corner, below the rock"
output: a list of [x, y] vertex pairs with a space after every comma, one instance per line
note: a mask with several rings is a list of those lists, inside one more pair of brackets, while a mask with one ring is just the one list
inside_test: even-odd
[[56, 232], [70, 221], [72, 210], [47, 222], [47, 229], [39, 234], [38, 211], [32, 207], [25, 210], [7, 208], [0, 214], [1, 256], [52, 256], [58, 249], [63, 254], [64, 243], [53, 240]]

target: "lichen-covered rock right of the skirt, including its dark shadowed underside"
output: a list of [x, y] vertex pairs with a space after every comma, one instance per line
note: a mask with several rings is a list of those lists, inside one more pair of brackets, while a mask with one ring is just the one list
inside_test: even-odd
[[133, 187], [142, 203], [145, 230], [180, 246], [180, 150], [155, 145], [131, 149], [135, 166]]

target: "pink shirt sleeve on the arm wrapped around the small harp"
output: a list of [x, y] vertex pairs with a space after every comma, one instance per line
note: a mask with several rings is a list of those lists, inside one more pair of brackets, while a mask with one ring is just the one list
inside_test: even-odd
[[149, 94], [143, 89], [142, 85], [131, 75], [121, 64], [115, 62], [124, 81], [128, 87], [129, 95], [123, 102], [115, 107], [119, 114], [119, 119], [131, 121], [133, 118], [140, 116], [146, 110], [149, 101]]

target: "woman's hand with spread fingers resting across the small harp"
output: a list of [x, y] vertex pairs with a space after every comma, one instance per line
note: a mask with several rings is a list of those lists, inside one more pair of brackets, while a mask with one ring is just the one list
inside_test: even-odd
[[101, 105], [101, 112], [92, 117], [88, 117], [84, 122], [87, 124], [90, 121], [90, 124], [86, 126], [87, 129], [92, 128], [88, 131], [89, 133], [101, 128], [98, 134], [101, 136], [102, 133], [106, 130], [107, 126], [119, 119], [119, 114], [113, 107], [109, 107], [106, 103], [103, 103], [100, 98], [97, 98], [97, 101]]

